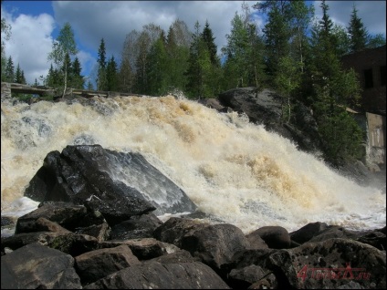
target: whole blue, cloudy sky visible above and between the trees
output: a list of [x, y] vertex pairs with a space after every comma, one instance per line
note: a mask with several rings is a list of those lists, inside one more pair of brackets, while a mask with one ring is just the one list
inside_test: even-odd
[[[320, 16], [320, 1], [313, 2], [316, 16]], [[386, 35], [386, 1], [327, 1], [329, 16], [347, 26], [353, 3], [371, 34]], [[47, 76], [47, 54], [61, 26], [69, 22], [78, 44], [78, 58], [82, 74], [95, 78], [95, 66], [100, 39], [107, 47], [107, 57], [120, 53], [131, 30], [155, 24], [165, 31], [179, 18], [193, 31], [195, 21], [204, 26], [208, 20], [215, 43], [220, 51], [235, 12], [241, 11], [243, 1], [4, 1], [1, 16], [12, 26], [12, 36], [5, 42], [5, 54], [20, 64], [28, 83], [39, 76]], [[246, 1], [248, 5], [256, 1]], [[251, 9], [254, 12], [254, 9]], [[264, 20], [256, 16], [258, 27]]]

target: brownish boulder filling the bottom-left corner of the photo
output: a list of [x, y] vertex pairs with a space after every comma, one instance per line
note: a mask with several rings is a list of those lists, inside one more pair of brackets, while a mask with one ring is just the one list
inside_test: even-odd
[[1, 257], [2, 289], [82, 289], [74, 259], [31, 243]]

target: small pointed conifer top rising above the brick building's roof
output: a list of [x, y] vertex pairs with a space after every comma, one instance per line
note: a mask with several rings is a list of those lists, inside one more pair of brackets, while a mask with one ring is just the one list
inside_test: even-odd
[[369, 36], [361, 18], [358, 16], [355, 4], [353, 4], [350, 24], [347, 29], [350, 35], [350, 52], [358, 52], [365, 49]]

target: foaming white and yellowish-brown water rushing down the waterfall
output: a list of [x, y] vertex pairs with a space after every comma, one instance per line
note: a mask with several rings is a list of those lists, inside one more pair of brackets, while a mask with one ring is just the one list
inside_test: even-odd
[[221, 114], [173, 97], [93, 98], [90, 103], [2, 103], [3, 215], [36, 208], [23, 192], [49, 151], [99, 144], [140, 152], [199, 210], [244, 233], [265, 225], [294, 231], [312, 222], [353, 229], [385, 225], [383, 192], [340, 176], [235, 112]]

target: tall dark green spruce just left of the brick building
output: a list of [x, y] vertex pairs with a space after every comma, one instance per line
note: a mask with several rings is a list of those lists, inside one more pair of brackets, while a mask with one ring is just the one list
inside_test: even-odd
[[340, 66], [338, 39], [333, 33], [329, 5], [322, 1], [322, 19], [316, 23], [311, 38], [308, 72], [313, 99], [311, 107], [319, 125], [326, 159], [338, 165], [358, 157], [361, 129], [345, 110], [360, 98], [360, 86], [353, 70]]

